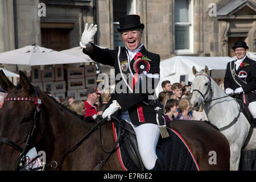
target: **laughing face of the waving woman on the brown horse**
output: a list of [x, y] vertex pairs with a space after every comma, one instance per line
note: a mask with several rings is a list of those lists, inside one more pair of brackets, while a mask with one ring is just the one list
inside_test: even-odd
[[140, 29], [129, 29], [121, 32], [121, 38], [127, 49], [135, 50], [141, 44], [142, 31]]

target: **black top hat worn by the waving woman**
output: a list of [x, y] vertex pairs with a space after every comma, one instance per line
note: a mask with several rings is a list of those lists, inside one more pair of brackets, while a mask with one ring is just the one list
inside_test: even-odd
[[141, 28], [141, 30], [144, 29], [144, 24], [141, 23], [141, 18], [139, 15], [126, 15], [121, 17], [119, 19], [119, 26], [120, 28], [117, 28], [119, 32], [131, 28]]

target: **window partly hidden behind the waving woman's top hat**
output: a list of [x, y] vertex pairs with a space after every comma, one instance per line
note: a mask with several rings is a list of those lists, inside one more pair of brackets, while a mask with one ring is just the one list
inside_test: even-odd
[[117, 28], [119, 28], [119, 18], [130, 14], [136, 14], [136, 0], [113, 0], [114, 48], [125, 46]]

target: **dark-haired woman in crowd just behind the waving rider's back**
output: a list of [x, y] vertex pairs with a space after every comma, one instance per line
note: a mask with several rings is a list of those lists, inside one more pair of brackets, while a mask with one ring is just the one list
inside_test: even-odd
[[175, 99], [170, 99], [166, 102], [166, 107], [165, 107], [166, 114], [164, 115], [166, 119], [166, 124], [176, 119], [177, 107], [178, 107], [178, 102]]

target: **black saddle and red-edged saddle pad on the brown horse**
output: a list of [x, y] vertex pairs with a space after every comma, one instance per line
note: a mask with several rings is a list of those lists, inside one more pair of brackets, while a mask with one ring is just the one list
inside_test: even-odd
[[[118, 123], [113, 122], [114, 137], [117, 139]], [[125, 171], [144, 171], [139, 155], [136, 134], [133, 127], [121, 119], [121, 140], [118, 143], [118, 158]], [[168, 138], [159, 137], [156, 155], [162, 168], [168, 171], [197, 171], [199, 167], [184, 139], [174, 130], [168, 129]]]

